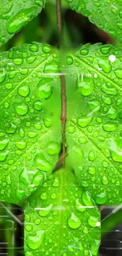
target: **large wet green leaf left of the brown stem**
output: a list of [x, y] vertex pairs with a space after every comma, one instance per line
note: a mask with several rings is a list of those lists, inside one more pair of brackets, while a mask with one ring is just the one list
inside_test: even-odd
[[57, 54], [24, 45], [2, 53], [0, 67], [0, 200], [19, 204], [54, 169], [61, 150]]

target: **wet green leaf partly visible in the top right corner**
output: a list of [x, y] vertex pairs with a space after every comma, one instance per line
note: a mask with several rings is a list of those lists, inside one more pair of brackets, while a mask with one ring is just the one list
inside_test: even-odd
[[66, 0], [71, 9], [87, 16], [113, 38], [122, 42], [122, 2], [121, 0]]

